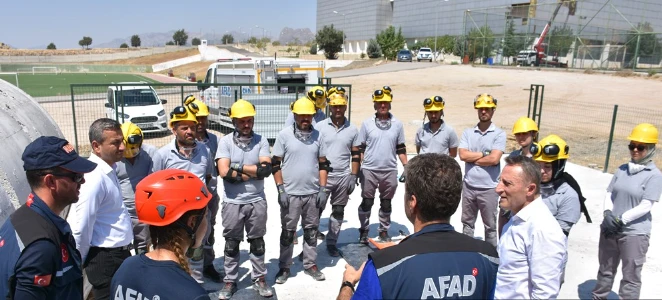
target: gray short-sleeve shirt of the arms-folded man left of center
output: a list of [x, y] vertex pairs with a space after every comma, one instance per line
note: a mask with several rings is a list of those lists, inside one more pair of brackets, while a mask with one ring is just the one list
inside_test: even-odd
[[[215, 159], [227, 158], [230, 164], [258, 165], [260, 156], [269, 156], [269, 142], [259, 134], [253, 134], [253, 139], [246, 149], [235, 144], [232, 134], [221, 138]], [[232, 204], [247, 204], [265, 198], [264, 179], [251, 178], [248, 181], [230, 183], [223, 180], [223, 202]]]

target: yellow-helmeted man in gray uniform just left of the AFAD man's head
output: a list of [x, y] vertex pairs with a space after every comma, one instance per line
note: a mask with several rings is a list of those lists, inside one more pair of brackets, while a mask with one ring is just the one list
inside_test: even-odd
[[[363, 121], [359, 131], [360, 149], [363, 151], [361, 176], [361, 205], [359, 206], [359, 242], [368, 244], [370, 213], [375, 202], [375, 191], [379, 188], [379, 239], [390, 241], [388, 228], [391, 226], [391, 199], [398, 187], [398, 165], [396, 156], [403, 166], [407, 165], [405, 130], [400, 120], [391, 113], [391, 89], [384, 87], [372, 95], [375, 115]], [[404, 178], [402, 178], [404, 179]]]

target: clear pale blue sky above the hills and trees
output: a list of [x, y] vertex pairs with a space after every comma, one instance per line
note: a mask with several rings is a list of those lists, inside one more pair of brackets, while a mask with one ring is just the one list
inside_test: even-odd
[[[17, 0], [2, 1], [0, 42], [14, 48], [55, 43], [77, 48], [83, 36], [95, 43], [133, 34], [187, 32], [222, 35], [256, 25], [277, 37], [283, 27], [315, 32], [315, 0]], [[255, 29], [254, 32], [261, 31]], [[260, 32], [261, 34], [261, 32]], [[190, 35], [190, 34], [189, 34]]]

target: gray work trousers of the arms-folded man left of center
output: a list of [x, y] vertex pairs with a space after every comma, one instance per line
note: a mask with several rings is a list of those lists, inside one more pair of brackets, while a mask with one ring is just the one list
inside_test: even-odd
[[[223, 237], [242, 241], [244, 229], [246, 239], [261, 239], [267, 233], [267, 201], [260, 200], [247, 204], [223, 203], [221, 218], [223, 218]], [[267, 275], [267, 266], [264, 264], [264, 254], [257, 256], [253, 253], [248, 255], [253, 269], [251, 278], [257, 279]], [[225, 255], [223, 264], [225, 269], [224, 282], [237, 282], [239, 274], [239, 254], [234, 257]]]

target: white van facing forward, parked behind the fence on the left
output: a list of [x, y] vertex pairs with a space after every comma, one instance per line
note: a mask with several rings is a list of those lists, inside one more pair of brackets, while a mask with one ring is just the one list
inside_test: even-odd
[[168, 116], [154, 88], [146, 82], [118, 82], [108, 86], [106, 98], [106, 117], [120, 123], [131, 121], [138, 125], [144, 133], [168, 131]]

